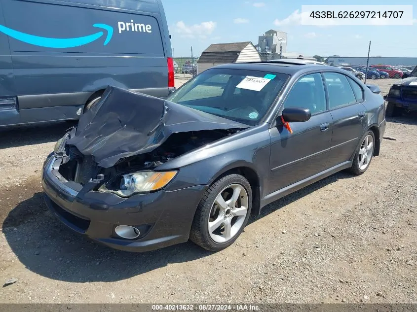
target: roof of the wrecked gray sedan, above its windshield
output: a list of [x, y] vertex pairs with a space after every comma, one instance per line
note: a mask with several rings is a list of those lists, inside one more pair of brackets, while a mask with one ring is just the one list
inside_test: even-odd
[[231, 64], [222, 64], [213, 67], [213, 69], [242, 69], [242, 70], [260, 70], [260, 71], [269, 71], [277, 73], [285, 73], [289, 75], [294, 75], [298, 72], [308, 72], [311, 70], [329, 70], [338, 71], [345, 73], [343, 69], [339, 69], [334, 66], [326, 66], [319, 64], [305, 64], [305, 63], [291, 63], [291, 62], [281, 62], [281, 61], [259, 61], [259, 62], [247, 62], [247, 63], [231, 63]]

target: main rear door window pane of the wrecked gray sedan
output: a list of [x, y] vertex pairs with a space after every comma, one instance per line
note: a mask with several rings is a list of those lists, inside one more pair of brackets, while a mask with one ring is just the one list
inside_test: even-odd
[[336, 72], [325, 72], [324, 77], [329, 93], [329, 108], [356, 103], [355, 94], [348, 78]]

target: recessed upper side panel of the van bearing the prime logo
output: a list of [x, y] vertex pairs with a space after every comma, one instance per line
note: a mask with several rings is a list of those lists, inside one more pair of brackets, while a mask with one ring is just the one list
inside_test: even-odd
[[98, 8], [4, 0], [5, 29], [16, 52], [164, 56], [156, 18]]

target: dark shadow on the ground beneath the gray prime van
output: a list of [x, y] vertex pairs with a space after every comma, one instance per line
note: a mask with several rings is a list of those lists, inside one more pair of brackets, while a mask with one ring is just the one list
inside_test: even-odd
[[57, 141], [64, 136], [65, 130], [75, 126], [76, 123], [76, 121], [64, 121], [42, 126], [1, 129], [0, 149]]

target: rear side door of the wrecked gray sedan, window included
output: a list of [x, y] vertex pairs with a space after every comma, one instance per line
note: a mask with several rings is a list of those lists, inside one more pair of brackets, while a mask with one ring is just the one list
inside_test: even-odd
[[362, 87], [338, 72], [324, 72], [333, 135], [328, 168], [346, 162], [353, 155], [367, 124]]

